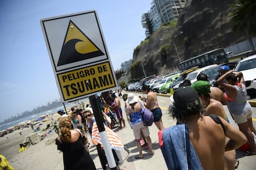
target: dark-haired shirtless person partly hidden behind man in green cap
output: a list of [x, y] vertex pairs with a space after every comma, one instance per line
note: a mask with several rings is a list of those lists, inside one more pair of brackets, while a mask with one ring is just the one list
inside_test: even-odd
[[[198, 80], [209, 81], [208, 76], [205, 73], [200, 73], [197, 76], [197, 81]], [[215, 100], [221, 102], [222, 105], [227, 105], [228, 104], [227, 100], [224, 97], [223, 91], [221, 91], [221, 89], [219, 89], [218, 87], [211, 86], [210, 91], [211, 91], [210, 92], [211, 99], [215, 99]]]

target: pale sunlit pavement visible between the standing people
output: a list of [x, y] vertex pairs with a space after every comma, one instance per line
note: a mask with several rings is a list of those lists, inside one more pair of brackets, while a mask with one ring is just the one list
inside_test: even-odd
[[[126, 93], [126, 92], [123, 92]], [[136, 95], [142, 95], [135, 93]], [[176, 121], [173, 120], [171, 115], [168, 113], [169, 105], [171, 104], [171, 101], [169, 100], [169, 97], [166, 96], [160, 96], [158, 95], [158, 102], [160, 104], [160, 107], [163, 111], [163, 124], [164, 127], [173, 126], [176, 124]], [[124, 108], [124, 101], [121, 99], [121, 105], [122, 108]], [[224, 107], [226, 110], [227, 115], [229, 116], [229, 119], [231, 120], [231, 124], [237, 127], [237, 125], [234, 123], [233, 119], [231, 118], [228, 108]], [[253, 115], [254, 118], [254, 126], [256, 127], [256, 108], [253, 108]], [[127, 124], [127, 121], [126, 121]], [[126, 145], [127, 148], [130, 150], [130, 154], [126, 161], [121, 165], [122, 169], [167, 169], [166, 164], [164, 163], [164, 158], [161, 153], [161, 150], [158, 146], [158, 129], [156, 128], [155, 124], [153, 126], [150, 126], [150, 137], [153, 143], [153, 149], [155, 150], [155, 155], [151, 156], [148, 152], [148, 150], [143, 150], [143, 160], [137, 160], [134, 158], [135, 155], [138, 154], [137, 147], [135, 147], [134, 142], [134, 134], [132, 132], [132, 129], [130, 129], [129, 125], [127, 124], [127, 127], [124, 129], [115, 129], [114, 130], [119, 137], [121, 137], [122, 142], [124, 145]], [[238, 169], [255, 169], [256, 167], [256, 155], [254, 156], [244, 156], [244, 153], [239, 152], [237, 150], [237, 159], [239, 159], [240, 164]], [[95, 147], [90, 148], [90, 155], [93, 157], [93, 161], [96, 164], [97, 169], [101, 169], [100, 161], [98, 160], [98, 156], [95, 151]]]

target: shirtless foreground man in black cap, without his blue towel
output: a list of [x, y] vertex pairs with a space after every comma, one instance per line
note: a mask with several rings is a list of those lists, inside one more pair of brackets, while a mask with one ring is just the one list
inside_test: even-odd
[[[197, 91], [190, 86], [179, 87], [174, 92], [173, 117], [189, 128], [189, 139], [202, 164], [203, 169], [228, 169], [224, 152], [241, 147], [247, 142], [244, 134], [225, 119], [216, 123], [204, 113]], [[229, 141], [226, 142], [226, 137]], [[174, 141], [175, 142], [175, 141]]]

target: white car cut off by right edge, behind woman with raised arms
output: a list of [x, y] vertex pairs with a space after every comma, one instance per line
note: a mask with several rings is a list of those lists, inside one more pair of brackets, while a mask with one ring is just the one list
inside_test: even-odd
[[241, 60], [234, 71], [241, 71], [246, 83], [247, 95], [256, 94], [256, 54]]

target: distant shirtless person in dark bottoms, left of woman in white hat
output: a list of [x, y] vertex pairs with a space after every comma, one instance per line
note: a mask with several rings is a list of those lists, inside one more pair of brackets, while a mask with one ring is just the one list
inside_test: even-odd
[[114, 103], [111, 105], [111, 108], [114, 110], [114, 112], [117, 115], [117, 118], [119, 119], [120, 126], [119, 128], [122, 128], [122, 123], [124, 123], [123, 127], [126, 127], [126, 122], [124, 121], [124, 118], [122, 117], [122, 108], [120, 99], [116, 97], [116, 94], [111, 94], [111, 98], [114, 100]]

